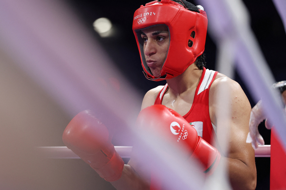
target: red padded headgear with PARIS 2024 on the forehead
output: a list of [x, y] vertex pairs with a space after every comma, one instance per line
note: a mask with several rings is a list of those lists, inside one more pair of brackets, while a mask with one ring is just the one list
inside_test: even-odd
[[[160, 24], [169, 28], [170, 46], [161, 68], [161, 76], [155, 78], [146, 64], [140, 30]], [[204, 52], [207, 25], [205, 11], [191, 11], [172, 0], [152, 1], [145, 6], [141, 5], [134, 13], [132, 29], [146, 78], [161, 81], [182, 74]]]

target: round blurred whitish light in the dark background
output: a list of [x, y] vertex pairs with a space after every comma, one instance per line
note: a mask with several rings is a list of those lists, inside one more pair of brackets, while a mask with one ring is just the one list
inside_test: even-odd
[[93, 27], [101, 37], [109, 37], [112, 34], [112, 23], [107, 18], [102, 17], [96, 19], [93, 23]]

